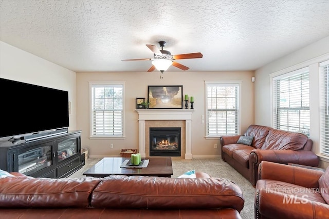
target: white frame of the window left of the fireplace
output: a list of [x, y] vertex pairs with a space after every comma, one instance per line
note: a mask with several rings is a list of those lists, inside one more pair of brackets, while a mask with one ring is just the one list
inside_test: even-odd
[[[93, 87], [94, 86], [122, 86], [122, 135], [94, 135], [93, 134]], [[104, 82], [89, 82], [89, 138], [111, 138], [122, 139], [125, 138], [125, 82], [124, 81], [104, 81]]]

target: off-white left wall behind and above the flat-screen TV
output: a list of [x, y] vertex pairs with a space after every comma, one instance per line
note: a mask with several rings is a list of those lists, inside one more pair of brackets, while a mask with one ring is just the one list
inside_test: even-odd
[[0, 63], [2, 78], [68, 91], [71, 102], [69, 130], [76, 130], [76, 72], [1, 41]]

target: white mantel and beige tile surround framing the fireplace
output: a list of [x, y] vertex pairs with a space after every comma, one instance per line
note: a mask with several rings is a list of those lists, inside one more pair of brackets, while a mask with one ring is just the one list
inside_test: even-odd
[[181, 158], [192, 159], [193, 109], [141, 109], [136, 111], [139, 121], [139, 153], [142, 157], [150, 156], [150, 127], [181, 127]]

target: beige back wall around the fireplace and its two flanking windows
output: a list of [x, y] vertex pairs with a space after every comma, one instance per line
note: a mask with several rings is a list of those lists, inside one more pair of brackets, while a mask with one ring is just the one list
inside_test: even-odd
[[[148, 85], [182, 85], [183, 94], [194, 96], [192, 114], [193, 157], [216, 157], [221, 155], [218, 138], [205, 138], [205, 81], [242, 81], [242, 133], [254, 121], [254, 91], [251, 77], [253, 71], [239, 72], [78, 72], [77, 73], [77, 128], [82, 130], [82, 147], [88, 147], [91, 157], [119, 156], [121, 149], [138, 149], [138, 113], [136, 97], [147, 97]], [[95, 140], [89, 138], [89, 82], [125, 81], [125, 138]], [[114, 144], [110, 148], [110, 144]], [[214, 144], [218, 147], [215, 149]]]

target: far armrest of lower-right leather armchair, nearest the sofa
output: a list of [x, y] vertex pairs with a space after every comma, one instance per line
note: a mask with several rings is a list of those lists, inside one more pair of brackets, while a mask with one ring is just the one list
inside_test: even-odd
[[258, 169], [258, 180], [277, 180], [306, 188], [319, 188], [322, 171], [262, 161]]

